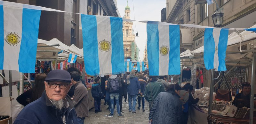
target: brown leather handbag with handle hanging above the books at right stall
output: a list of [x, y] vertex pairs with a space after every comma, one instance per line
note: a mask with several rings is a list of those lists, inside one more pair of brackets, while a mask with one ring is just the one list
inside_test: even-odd
[[224, 78], [225, 83], [226, 83], [229, 90], [220, 89], [220, 84], [219, 84], [218, 89], [216, 91], [215, 98], [220, 99], [220, 100], [225, 100], [225, 101], [231, 101], [232, 100], [231, 91], [230, 91], [230, 88], [227, 84], [224, 71], [222, 71], [222, 74], [223, 74], [223, 77], [220, 79], [220, 84], [221, 84], [221, 82]]

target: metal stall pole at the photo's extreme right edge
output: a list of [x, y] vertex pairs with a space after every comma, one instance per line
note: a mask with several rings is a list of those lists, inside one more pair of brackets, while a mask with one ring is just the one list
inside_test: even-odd
[[[255, 48], [254, 48], [254, 50], [255, 50]], [[256, 52], [253, 53], [253, 59], [252, 59], [252, 81], [251, 81], [251, 99], [250, 99], [250, 124], [253, 124], [255, 70], [256, 70]]]

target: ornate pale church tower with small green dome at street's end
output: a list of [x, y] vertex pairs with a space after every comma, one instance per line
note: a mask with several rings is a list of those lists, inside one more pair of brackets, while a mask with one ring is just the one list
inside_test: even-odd
[[[124, 10], [125, 14], [123, 18], [130, 19], [130, 7], [127, 6]], [[135, 43], [135, 34], [132, 29], [133, 22], [124, 21], [123, 22], [123, 40], [124, 40], [124, 57], [126, 60], [138, 61], [139, 60], [139, 49]]]

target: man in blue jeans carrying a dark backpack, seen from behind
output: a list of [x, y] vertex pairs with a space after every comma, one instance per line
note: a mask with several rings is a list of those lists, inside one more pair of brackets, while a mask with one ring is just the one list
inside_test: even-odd
[[117, 117], [123, 117], [124, 115], [120, 112], [119, 106], [119, 89], [121, 89], [122, 83], [121, 78], [117, 77], [117, 75], [109, 75], [107, 89], [109, 91], [110, 103], [111, 103], [111, 112], [108, 117], [113, 117], [114, 113], [114, 99], [116, 100], [116, 109], [117, 109]]

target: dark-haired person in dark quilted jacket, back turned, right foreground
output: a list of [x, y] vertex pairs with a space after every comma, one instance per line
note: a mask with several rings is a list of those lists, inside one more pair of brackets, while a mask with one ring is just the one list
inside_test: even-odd
[[148, 119], [151, 124], [180, 124], [182, 116], [182, 102], [180, 100], [181, 87], [171, 84], [166, 92], [160, 92], [153, 102]]

